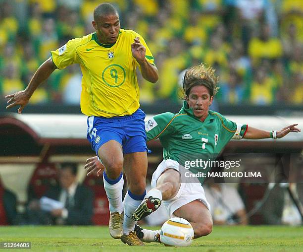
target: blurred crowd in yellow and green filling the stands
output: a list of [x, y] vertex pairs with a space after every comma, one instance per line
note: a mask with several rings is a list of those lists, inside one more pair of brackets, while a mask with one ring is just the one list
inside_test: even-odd
[[[106, 0], [141, 34], [159, 70], [141, 102], [180, 102], [184, 70], [211, 64], [220, 104], [303, 104], [302, 0]], [[23, 89], [50, 51], [94, 32], [100, 0], [0, 0], [0, 101]], [[301, 31], [301, 32], [300, 32]], [[78, 65], [55, 70], [32, 104], [78, 104]]]

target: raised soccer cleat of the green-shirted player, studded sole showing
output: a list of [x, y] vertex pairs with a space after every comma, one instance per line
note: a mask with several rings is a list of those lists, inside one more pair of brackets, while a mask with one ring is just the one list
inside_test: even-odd
[[159, 198], [154, 198], [150, 196], [149, 198], [144, 199], [141, 204], [137, 207], [132, 217], [133, 220], [139, 221], [144, 217], [150, 215], [152, 212], [157, 210], [161, 205], [161, 200]]

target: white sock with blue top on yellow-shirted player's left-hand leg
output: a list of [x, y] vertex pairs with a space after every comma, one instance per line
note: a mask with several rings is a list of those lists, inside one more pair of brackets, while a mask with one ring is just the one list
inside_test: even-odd
[[106, 191], [106, 196], [109, 201], [109, 211], [110, 212], [123, 212], [123, 202], [122, 202], [122, 190], [124, 185], [124, 180], [122, 173], [116, 180], [110, 180], [105, 171], [103, 172], [103, 183], [104, 189]]

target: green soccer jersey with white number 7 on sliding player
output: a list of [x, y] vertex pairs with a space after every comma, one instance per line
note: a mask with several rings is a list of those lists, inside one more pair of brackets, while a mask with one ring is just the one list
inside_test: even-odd
[[[202, 122], [194, 116], [193, 109], [184, 101], [178, 114], [170, 112], [154, 116], [145, 124], [147, 140], [159, 138], [163, 146], [163, 158], [185, 166], [191, 161], [214, 160], [225, 145], [234, 137], [241, 139], [247, 125], [236, 124], [213, 111]], [[201, 170], [201, 165], [191, 165], [190, 171]]]

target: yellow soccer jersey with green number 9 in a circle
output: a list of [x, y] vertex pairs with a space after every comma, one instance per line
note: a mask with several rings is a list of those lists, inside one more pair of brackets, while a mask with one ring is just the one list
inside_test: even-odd
[[82, 78], [81, 111], [87, 116], [115, 117], [132, 115], [139, 107], [139, 86], [131, 44], [140, 37], [146, 58], [154, 64], [144, 39], [132, 30], [120, 29], [114, 45], [103, 45], [97, 34], [68, 41], [51, 51], [57, 68], [79, 63]]

